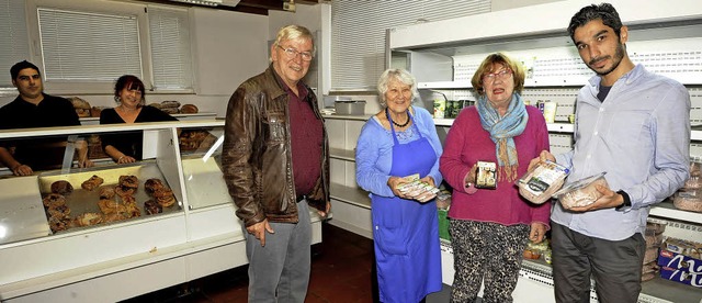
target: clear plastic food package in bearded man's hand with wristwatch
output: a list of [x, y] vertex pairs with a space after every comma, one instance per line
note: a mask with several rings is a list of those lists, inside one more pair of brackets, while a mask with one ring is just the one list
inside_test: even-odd
[[554, 193], [554, 197], [561, 201], [561, 205], [566, 210], [590, 205], [602, 197], [602, 193], [597, 190], [596, 186], [600, 184], [609, 188], [607, 179], [604, 179], [604, 173], [607, 172], [600, 172], [566, 184]]

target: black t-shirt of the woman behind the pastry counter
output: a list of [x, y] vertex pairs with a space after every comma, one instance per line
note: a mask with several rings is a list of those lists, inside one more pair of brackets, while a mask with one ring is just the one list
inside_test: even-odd
[[[141, 106], [139, 115], [136, 116], [134, 123], [139, 122], [160, 122], [160, 121], [178, 121], [178, 119], [165, 113], [154, 106]], [[100, 124], [122, 124], [126, 123], [114, 109], [105, 109], [100, 112]], [[141, 159], [144, 132], [120, 132], [115, 134], [100, 136], [102, 148], [107, 145], [117, 148], [124, 155]]]

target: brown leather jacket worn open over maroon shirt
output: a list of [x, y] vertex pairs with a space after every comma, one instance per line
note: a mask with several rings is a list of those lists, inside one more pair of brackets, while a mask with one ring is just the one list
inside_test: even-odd
[[[288, 97], [272, 66], [261, 75], [246, 80], [234, 92], [227, 106], [222, 155], [224, 179], [237, 216], [251, 226], [270, 222], [297, 222], [298, 194], [317, 210], [326, 210], [329, 201], [329, 142], [324, 128], [321, 176], [310, 193], [296, 193], [293, 180]], [[322, 120], [317, 97], [309, 93], [307, 102]]]

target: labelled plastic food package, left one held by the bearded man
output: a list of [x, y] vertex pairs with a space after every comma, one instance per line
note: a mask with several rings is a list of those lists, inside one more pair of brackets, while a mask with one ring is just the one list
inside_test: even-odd
[[542, 161], [517, 181], [519, 193], [535, 204], [551, 199], [568, 176], [568, 169], [553, 161]]

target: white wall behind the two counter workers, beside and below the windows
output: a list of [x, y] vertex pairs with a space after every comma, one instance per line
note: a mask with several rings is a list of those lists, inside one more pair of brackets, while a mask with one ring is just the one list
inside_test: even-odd
[[[147, 92], [146, 102], [178, 100], [193, 103], [201, 112], [224, 116], [227, 102], [236, 88], [268, 67], [267, 37], [269, 16], [206, 8], [190, 9], [195, 94], [159, 94]], [[0, 67], [10, 77], [10, 67]], [[116, 79], [115, 79], [116, 80]], [[52, 93], [46, 90], [46, 93]], [[93, 106], [116, 105], [112, 91], [103, 94], [78, 96]], [[16, 98], [16, 91], [0, 92], [0, 105]]]

